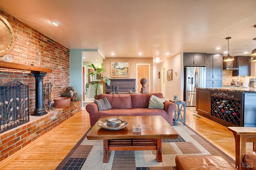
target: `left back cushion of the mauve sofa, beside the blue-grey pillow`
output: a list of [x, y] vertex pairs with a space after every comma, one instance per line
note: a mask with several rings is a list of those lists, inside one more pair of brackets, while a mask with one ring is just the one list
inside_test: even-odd
[[132, 99], [131, 95], [126, 94], [100, 94], [98, 99], [106, 97], [112, 109], [131, 109]]

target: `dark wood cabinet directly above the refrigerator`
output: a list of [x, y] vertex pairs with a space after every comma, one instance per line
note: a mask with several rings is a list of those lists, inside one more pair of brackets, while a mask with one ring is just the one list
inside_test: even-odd
[[184, 66], [205, 66], [206, 53], [184, 53]]

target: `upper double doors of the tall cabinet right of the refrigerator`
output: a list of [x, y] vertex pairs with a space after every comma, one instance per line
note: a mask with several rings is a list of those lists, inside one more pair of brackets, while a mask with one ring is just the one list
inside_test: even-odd
[[222, 55], [206, 55], [206, 79], [222, 79]]

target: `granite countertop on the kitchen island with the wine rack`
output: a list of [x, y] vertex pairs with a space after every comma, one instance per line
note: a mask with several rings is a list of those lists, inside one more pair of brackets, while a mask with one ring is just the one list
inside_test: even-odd
[[251, 88], [251, 87], [196, 87], [196, 89], [233, 91], [233, 92], [242, 92], [242, 93], [256, 93], [256, 88]]

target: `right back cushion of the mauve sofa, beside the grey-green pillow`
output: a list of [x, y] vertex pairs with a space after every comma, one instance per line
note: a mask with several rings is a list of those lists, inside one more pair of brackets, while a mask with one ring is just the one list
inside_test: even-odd
[[148, 108], [151, 95], [163, 98], [162, 93], [134, 93], [132, 97], [132, 108]]

